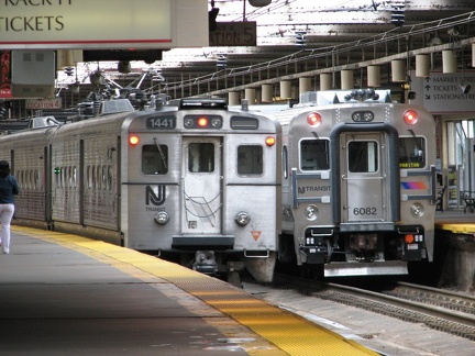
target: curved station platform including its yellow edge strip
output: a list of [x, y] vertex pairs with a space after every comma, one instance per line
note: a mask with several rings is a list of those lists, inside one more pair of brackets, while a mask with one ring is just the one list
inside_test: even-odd
[[12, 226], [4, 355], [378, 355], [219, 279], [70, 234]]

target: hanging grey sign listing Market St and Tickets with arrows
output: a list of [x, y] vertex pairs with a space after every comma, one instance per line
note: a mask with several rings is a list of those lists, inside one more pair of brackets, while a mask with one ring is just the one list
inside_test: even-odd
[[475, 112], [475, 71], [443, 74], [431, 71], [427, 78], [412, 74], [411, 103], [424, 107], [432, 114]]

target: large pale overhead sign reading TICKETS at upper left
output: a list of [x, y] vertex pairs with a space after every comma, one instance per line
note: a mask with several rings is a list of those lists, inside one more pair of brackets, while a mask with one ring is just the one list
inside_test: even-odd
[[208, 27], [207, 14], [206, 0], [3, 0], [0, 49], [170, 48], [183, 42], [174, 26]]

